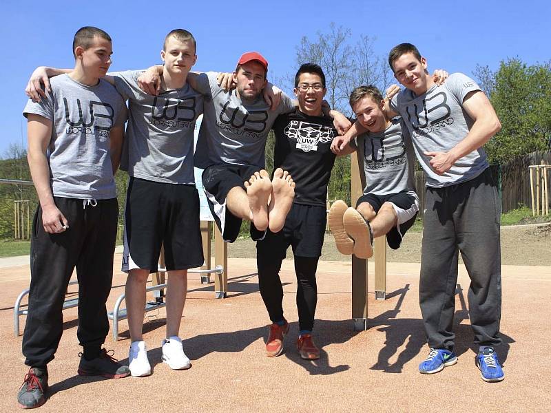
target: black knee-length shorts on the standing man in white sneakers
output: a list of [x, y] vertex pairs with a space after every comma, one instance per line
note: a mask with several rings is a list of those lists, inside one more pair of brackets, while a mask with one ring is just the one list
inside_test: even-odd
[[195, 185], [131, 177], [125, 207], [123, 271], [157, 271], [163, 244], [168, 271], [202, 266], [199, 193]]

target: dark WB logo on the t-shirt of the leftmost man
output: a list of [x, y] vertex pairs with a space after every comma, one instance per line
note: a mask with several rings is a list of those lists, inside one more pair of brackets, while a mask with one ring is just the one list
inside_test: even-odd
[[[65, 121], [67, 122], [67, 134], [85, 134], [96, 136], [109, 136], [113, 127], [114, 109], [109, 103], [90, 100], [87, 113], [83, 111], [81, 100], [76, 99], [76, 108], [79, 111], [77, 118], [74, 105], [63, 98], [65, 107]], [[73, 110], [71, 111], [71, 108]]]

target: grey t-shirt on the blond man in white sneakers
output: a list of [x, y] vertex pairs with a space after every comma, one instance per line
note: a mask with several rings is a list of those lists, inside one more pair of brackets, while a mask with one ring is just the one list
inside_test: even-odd
[[202, 95], [189, 84], [149, 95], [138, 87], [140, 74], [112, 73], [129, 109], [121, 169], [155, 182], [194, 184], [194, 129]]

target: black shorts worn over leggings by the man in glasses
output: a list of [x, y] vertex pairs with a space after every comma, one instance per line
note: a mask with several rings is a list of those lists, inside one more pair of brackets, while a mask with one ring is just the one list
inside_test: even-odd
[[320, 205], [295, 204], [278, 233], [267, 230], [266, 236], [256, 242], [256, 252], [264, 260], [283, 260], [289, 245], [296, 257], [318, 258], [322, 255], [325, 235], [326, 209]]

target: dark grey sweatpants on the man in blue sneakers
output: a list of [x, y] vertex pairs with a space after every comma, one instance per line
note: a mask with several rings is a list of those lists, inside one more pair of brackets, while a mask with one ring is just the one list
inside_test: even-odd
[[477, 178], [426, 189], [419, 303], [430, 348], [453, 350], [458, 248], [470, 277], [475, 344], [501, 343], [501, 216], [490, 169]]

